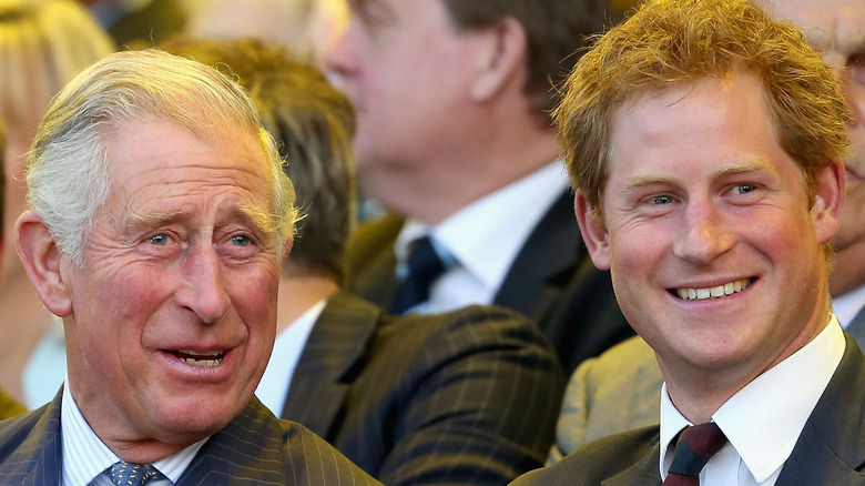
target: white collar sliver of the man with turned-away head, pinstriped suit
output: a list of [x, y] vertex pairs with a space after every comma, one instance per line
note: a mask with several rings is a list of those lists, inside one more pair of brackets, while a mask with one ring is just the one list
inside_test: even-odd
[[326, 298], [318, 301], [276, 336], [271, 360], [258, 387], [255, 388], [255, 396], [277, 417], [285, 407], [292, 377], [306, 347], [306, 341], [326, 304]]

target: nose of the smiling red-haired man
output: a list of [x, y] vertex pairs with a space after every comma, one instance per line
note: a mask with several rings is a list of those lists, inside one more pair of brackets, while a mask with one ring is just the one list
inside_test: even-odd
[[735, 244], [735, 235], [711, 203], [689, 203], [684, 220], [673, 243], [673, 254], [682, 260], [705, 265]]

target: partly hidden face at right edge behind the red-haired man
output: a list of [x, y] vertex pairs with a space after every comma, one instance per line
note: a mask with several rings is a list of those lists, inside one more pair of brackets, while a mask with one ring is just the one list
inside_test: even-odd
[[774, 18], [796, 23], [842, 78], [853, 114], [854, 153], [845, 160], [847, 190], [835, 245], [865, 241], [865, 2], [862, 0], [761, 0]]

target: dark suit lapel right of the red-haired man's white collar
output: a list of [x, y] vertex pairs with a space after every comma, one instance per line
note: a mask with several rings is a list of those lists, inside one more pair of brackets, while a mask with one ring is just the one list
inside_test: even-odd
[[865, 358], [852, 336], [838, 368], [814, 407], [778, 486], [865, 485]]

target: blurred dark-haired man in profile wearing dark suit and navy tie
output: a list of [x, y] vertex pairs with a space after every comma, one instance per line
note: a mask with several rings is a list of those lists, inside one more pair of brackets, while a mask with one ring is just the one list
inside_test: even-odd
[[362, 192], [388, 213], [353, 237], [348, 287], [393, 313], [513, 308], [538, 323], [566, 371], [633, 334], [609, 272], [587, 257], [549, 117], [574, 51], [621, 6], [349, 7], [326, 65], [357, 109]]

